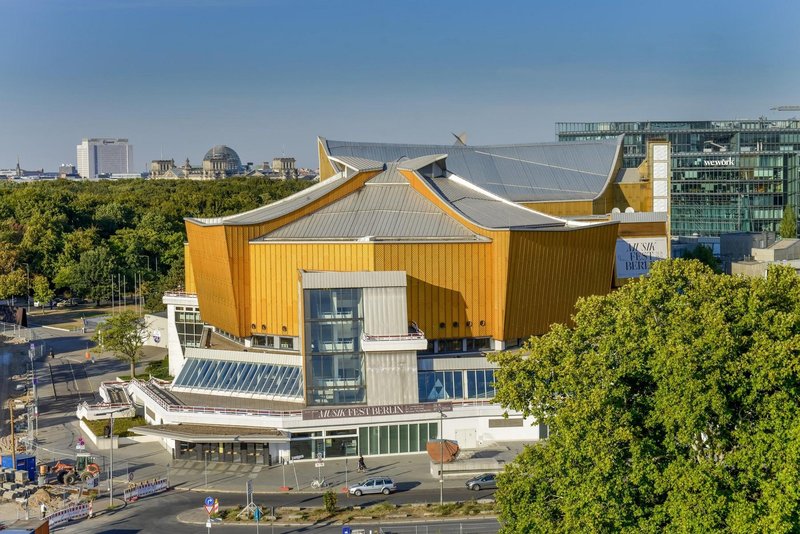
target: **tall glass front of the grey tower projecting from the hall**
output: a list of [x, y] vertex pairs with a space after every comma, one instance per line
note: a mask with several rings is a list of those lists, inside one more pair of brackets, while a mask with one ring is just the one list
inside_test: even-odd
[[361, 289], [304, 291], [308, 404], [366, 402]]

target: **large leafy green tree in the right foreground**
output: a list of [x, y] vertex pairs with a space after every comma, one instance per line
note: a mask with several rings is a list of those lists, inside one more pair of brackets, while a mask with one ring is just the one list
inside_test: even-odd
[[503, 532], [797, 532], [800, 277], [657, 262], [500, 353], [496, 400], [550, 428], [500, 475]]

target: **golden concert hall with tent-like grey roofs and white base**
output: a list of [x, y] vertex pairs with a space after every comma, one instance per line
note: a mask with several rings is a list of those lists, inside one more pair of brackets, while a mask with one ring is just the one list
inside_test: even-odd
[[638, 169], [622, 146], [318, 139], [319, 183], [186, 220], [175, 379], [130, 385], [137, 432], [242, 463], [546, 437], [492, 402], [487, 354], [669, 256], [669, 144]]

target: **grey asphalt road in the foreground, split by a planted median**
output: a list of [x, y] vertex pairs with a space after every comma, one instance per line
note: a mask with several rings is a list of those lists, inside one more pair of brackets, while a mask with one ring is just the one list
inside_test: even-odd
[[[453, 490], [455, 492], [455, 490]], [[467, 495], [471, 492], [464, 490]], [[430, 500], [438, 500], [438, 492], [432, 495], [430, 491], [415, 491], [398, 492], [390, 495], [388, 498], [384, 496], [379, 497], [362, 497], [361, 499], [347, 499], [342, 497], [340, 500], [341, 505], [351, 505], [359, 503], [361, 505], [376, 504], [387, 500], [389, 502], [405, 501], [407, 499], [416, 502], [425, 502]], [[485, 493], [485, 492], [478, 492]], [[405, 494], [405, 495], [404, 495]], [[410, 497], [409, 497], [410, 496]], [[205, 525], [202, 523], [183, 523], [178, 519], [178, 515], [182, 519], [186, 519], [187, 515], [192, 518], [199, 517], [202, 520], [202, 514], [186, 514], [189, 510], [199, 510], [203, 503], [204, 495], [197, 492], [170, 492], [158, 497], [150, 497], [142, 499], [136, 503], [131, 503], [124, 508], [101, 515], [94, 519], [81, 521], [72, 525], [67, 525], [64, 528], [59, 528], [56, 532], [64, 534], [72, 533], [86, 533], [86, 534], [146, 534], [146, 533], [164, 533], [170, 534], [196, 534], [199, 532], [206, 532]], [[453, 498], [455, 500], [455, 497]], [[220, 499], [222, 506], [240, 504], [244, 501], [243, 495], [226, 495]], [[259, 504], [267, 506], [315, 506], [319, 505], [320, 498], [318, 496], [294, 494], [294, 495], [261, 495], [256, 494], [255, 501]], [[104, 505], [105, 502], [101, 499], [96, 504]], [[100, 506], [97, 506], [99, 508]], [[373, 534], [378, 534], [378, 528], [383, 529], [384, 534], [492, 534], [498, 531], [499, 524], [493, 518], [480, 518], [471, 520], [455, 520], [455, 521], [427, 521], [427, 522], [411, 522], [410, 520], [387, 519], [385, 521], [372, 521], [367, 524], [353, 523], [350, 525], [353, 529], [363, 528], [366, 532], [372, 529]], [[341, 525], [319, 524], [319, 525], [295, 525], [295, 526], [275, 526], [273, 527], [265, 522], [260, 526], [260, 531], [271, 534], [289, 534], [289, 533], [317, 533], [317, 534], [341, 534]], [[216, 534], [222, 533], [237, 533], [254, 532], [255, 525], [222, 525], [215, 523], [211, 532]]]

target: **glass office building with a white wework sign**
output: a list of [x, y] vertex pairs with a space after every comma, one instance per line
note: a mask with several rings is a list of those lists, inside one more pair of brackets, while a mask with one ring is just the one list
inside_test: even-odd
[[672, 144], [673, 235], [777, 231], [784, 206], [798, 209], [800, 120], [559, 122], [559, 141], [624, 136], [627, 168], [647, 142]]

